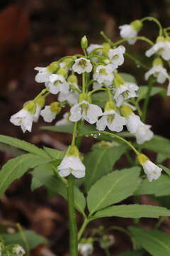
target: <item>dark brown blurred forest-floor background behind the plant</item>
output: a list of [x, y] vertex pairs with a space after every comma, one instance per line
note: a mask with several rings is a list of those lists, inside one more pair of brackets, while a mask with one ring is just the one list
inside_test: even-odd
[[[118, 26], [144, 16], [154, 16], [163, 26], [169, 26], [170, 1], [1, 0], [0, 133], [26, 139], [38, 146], [45, 144], [56, 147], [58, 142], [62, 143], [60, 146], [69, 144], [69, 136], [40, 131], [38, 127], [45, 124], [42, 119], [33, 125], [33, 132], [30, 134], [23, 134], [19, 127], [14, 127], [9, 122], [11, 114], [18, 112], [24, 102], [42, 90], [42, 85], [34, 81], [35, 66], [45, 66], [64, 55], [81, 53], [79, 42], [84, 35], [89, 43], [102, 43], [100, 31], [103, 30], [117, 41]], [[157, 25], [146, 22], [140, 34], [155, 40], [157, 33]], [[127, 50], [143, 61], [149, 61], [144, 57], [147, 47], [141, 41], [135, 46], [126, 45]], [[137, 68], [130, 60], [125, 60], [120, 70], [132, 73], [139, 85], [145, 85], [145, 71]], [[52, 99], [53, 97], [49, 97], [47, 103]], [[151, 100], [147, 122], [152, 124], [154, 132], [167, 138], [170, 138], [169, 114], [169, 98], [162, 100], [162, 97], [156, 96]], [[91, 142], [86, 140], [82, 150], [88, 151], [90, 146]], [[0, 151], [1, 164], [11, 157], [11, 154]], [[30, 193], [29, 187], [29, 175], [13, 183], [1, 200], [0, 220], [20, 222], [24, 228], [36, 230], [50, 238], [50, 246], [57, 255], [67, 255], [66, 204], [58, 196], [48, 200], [44, 189]], [[125, 223], [123, 220], [116, 221], [120, 225], [129, 225], [131, 220], [126, 220]], [[110, 225], [109, 221], [102, 222]], [[94, 223], [99, 224], [101, 222]], [[115, 236], [117, 240], [113, 247], [114, 253], [130, 249], [130, 241], [126, 237], [120, 233], [115, 233]], [[38, 253], [36, 251], [35, 255]], [[103, 254], [98, 251], [96, 255]]]

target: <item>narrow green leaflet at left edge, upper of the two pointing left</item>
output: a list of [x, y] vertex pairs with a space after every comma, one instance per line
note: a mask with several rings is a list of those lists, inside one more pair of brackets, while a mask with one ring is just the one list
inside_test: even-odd
[[0, 135], [0, 142], [8, 144], [10, 146], [15, 146], [18, 149], [23, 149], [32, 154], [37, 154], [38, 156], [44, 156], [47, 158], [47, 154], [45, 153], [45, 151], [43, 151], [42, 149], [39, 149], [38, 146], [35, 146], [23, 140], [5, 136], [5, 135]]

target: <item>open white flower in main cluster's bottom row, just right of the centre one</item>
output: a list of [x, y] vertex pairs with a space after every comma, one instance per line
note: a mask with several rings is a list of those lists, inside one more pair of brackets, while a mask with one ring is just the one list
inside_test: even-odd
[[103, 112], [103, 117], [96, 123], [96, 128], [99, 131], [103, 131], [107, 126], [113, 132], [121, 132], [125, 124], [125, 117], [121, 117], [115, 110], [106, 110]]

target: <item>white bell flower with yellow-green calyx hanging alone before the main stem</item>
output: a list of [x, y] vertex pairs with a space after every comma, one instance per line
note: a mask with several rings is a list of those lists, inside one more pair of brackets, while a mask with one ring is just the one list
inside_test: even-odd
[[57, 169], [62, 177], [67, 177], [69, 174], [72, 174], [75, 178], [83, 178], [85, 176], [86, 168], [79, 158], [79, 150], [76, 146], [69, 146], [67, 154]]

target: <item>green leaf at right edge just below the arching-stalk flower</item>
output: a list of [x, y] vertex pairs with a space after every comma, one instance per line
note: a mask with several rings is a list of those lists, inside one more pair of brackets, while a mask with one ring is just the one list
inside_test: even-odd
[[155, 196], [167, 196], [170, 195], [170, 177], [162, 174], [157, 180], [149, 182], [144, 179], [141, 183], [137, 191], [135, 191], [135, 195], [152, 195]]

